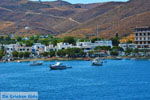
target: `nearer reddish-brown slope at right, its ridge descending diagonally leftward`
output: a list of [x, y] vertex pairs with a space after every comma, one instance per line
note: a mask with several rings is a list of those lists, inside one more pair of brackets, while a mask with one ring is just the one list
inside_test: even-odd
[[80, 36], [85, 36], [96, 33], [96, 29], [98, 29], [98, 35], [105, 38], [110, 38], [115, 33], [119, 33], [120, 36], [127, 36], [131, 34], [132, 29], [136, 26], [150, 26], [149, 5], [149, 0], [131, 0], [96, 18], [86, 21], [68, 31], [65, 35], [78, 36], [80, 34]]

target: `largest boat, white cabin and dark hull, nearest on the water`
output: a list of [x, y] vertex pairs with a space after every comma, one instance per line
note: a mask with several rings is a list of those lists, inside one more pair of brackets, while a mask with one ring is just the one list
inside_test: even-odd
[[50, 65], [51, 70], [63, 70], [63, 69], [67, 69], [67, 68], [72, 68], [72, 67], [63, 65], [63, 63], [61, 63], [61, 62], [56, 62], [56, 64]]

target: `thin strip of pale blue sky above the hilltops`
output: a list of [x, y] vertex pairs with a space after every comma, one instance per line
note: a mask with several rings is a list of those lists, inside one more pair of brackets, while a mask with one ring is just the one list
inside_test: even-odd
[[[37, 0], [32, 0], [32, 1], [37, 1]], [[41, 1], [56, 1], [56, 0], [41, 0]], [[64, 0], [68, 1], [70, 3], [97, 3], [97, 2], [109, 2], [109, 1], [128, 1], [128, 0]]]

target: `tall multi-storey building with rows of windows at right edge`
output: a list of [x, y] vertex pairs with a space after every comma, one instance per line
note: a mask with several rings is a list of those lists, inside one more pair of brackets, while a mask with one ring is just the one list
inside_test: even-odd
[[135, 43], [139, 49], [150, 49], [150, 27], [135, 28]]

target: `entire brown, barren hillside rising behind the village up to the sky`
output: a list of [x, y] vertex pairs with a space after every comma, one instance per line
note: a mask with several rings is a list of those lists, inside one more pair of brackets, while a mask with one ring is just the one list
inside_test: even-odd
[[150, 0], [94, 4], [71, 4], [61, 0], [0, 2], [2, 34], [111, 38], [115, 33], [124, 37], [132, 34], [135, 27], [150, 26]]

